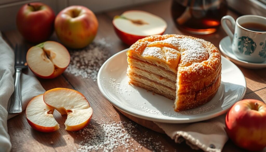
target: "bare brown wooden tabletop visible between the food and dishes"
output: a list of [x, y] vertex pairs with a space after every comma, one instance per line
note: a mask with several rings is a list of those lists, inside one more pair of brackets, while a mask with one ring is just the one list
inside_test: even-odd
[[[126, 10], [144, 10], [151, 12], [165, 19], [168, 23], [168, 28], [165, 31], [165, 34], [182, 34], [182, 35], [191, 35], [198, 38], [205, 39], [213, 43], [216, 47], [219, 46], [219, 42], [222, 38], [226, 36], [225, 32], [220, 28], [214, 34], [209, 35], [192, 35], [188, 33], [184, 33], [179, 31], [175, 26], [174, 22], [171, 18], [170, 14], [170, 5], [171, 1], [159, 1], [148, 4], [143, 4], [140, 6], [134, 6], [129, 8], [123, 8], [119, 10], [107, 11], [104, 13], [96, 14], [99, 21], [99, 30], [96, 39], [105, 38], [107, 43], [111, 44], [109, 48], [109, 52], [111, 55], [119, 52], [129, 46], [123, 44], [120, 39], [117, 37], [113, 30], [112, 19], [115, 15], [120, 15]], [[232, 11], [228, 11], [228, 14], [237, 18], [239, 15], [235, 14]], [[26, 43], [23, 41], [22, 37], [16, 30], [3, 32], [4, 39], [10, 44], [10, 46], [14, 46], [16, 43]], [[51, 40], [57, 40], [56, 36], [53, 35]], [[28, 44], [32, 46], [32, 44]], [[266, 70], [252, 70], [239, 67], [243, 72], [246, 82], [247, 82], [247, 92], [244, 98], [253, 98], [261, 101], [266, 101]], [[26, 74], [33, 75], [32, 72], [28, 69], [23, 71]], [[63, 75], [52, 79], [52, 80], [44, 80], [39, 79], [41, 84], [43, 85], [45, 90], [49, 90], [52, 88], [63, 87], [75, 89], [85, 95], [85, 97], [89, 100], [91, 106], [94, 108], [94, 114], [92, 117], [91, 123], [96, 123], [95, 120], [105, 119], [105, 116], [109, 116], [112, 114], [111, 118], [119, 121], [127, 121], [130, 122], [127, 117], [118, 112], [110, 102], [108, 102], [101, 92], [98, 89], [97, 82], [92, 79], [82, 79], [80, 76], [74, 76], [69, 73], [63, 73]], [[118, 117], [114, 117], [114, 113], [118, 113]], [[11, 143], [13, 145], [12, 151], [76, 151], [75, 148], [78, 147], [78, 143], [84, 138], [78, 136], [78, 134], [74, 134], [72, 132], [66, 131], [64, 128], [64, 121], [66, 116], [61, 117], [59, 113], [54, 114], [56, 120], [61, 125], [60, 129], [54, 133], [40, 133], [33, 130], [26, 120], [25, 111], [10, 120], [8, 120], [8, 132], [10, 134]], [[134, 122], [133, 122], [134, 123]], [[193, 151], [190, 149], [188, 145], [184, 142], [181, 144], [176, 144], [172, 139], [170, 139], [165, 134], [160, 134], [149, 130], [143, 126], [138, 125], [136, 134], [144, 134], [146, 133], [147, 138], [150, 136], [156, 137], [159, 135], [159, 139], [165, 149], [169, 151]], [[134, 142], [138, 142], [137, 139], [134, 139]], [[51, 144], [53, 141], [53, 144]], [[153, 142], [153, 141], [152, 141]], [[133, 149], [137, 148], [138, 144], [135, 144]], [[160, 149], [156, 149], [155, 146], [145, 147], [142, 145], [142, 151], [160, 151]], [[158, 147], [158, 146], [157, 146]], [[118, 151], [124, 151], [122, 147], [118, 147]], [[141, 150], [139, 150], [141, 151]], [[196, 151], [196, 150], [195, 150]], [[236, 147], [230, 140], [225, 144], [223, 151], [243, 151]]]

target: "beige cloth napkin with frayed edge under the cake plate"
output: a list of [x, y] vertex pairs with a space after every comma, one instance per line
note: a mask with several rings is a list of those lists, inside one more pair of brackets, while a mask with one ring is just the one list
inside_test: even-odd
[[228, 140], [225, 131], [225, 114], [196, 123], [166, 124], [154, 122], [176, 143], [186, 141], [192, 149], [221, 152]]

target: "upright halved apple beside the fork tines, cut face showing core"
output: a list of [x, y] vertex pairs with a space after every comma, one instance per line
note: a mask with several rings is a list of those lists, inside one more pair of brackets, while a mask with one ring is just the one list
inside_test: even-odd
[[31, 71], [43, 79], [61, 75], [70, 63], [68, 50], [60, 43], [46, 41], [31, 47], [26, 56]]

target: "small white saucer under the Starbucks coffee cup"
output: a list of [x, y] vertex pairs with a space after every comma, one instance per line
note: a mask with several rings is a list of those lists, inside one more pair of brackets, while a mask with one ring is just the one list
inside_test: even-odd
[[238, 59], [235, 56], [235, 54], [232, 52], [231, 44], [232, 44], [231, 39], [229, 38], [229, 36], [226, 36], [220, 41], [219, 47], [220, 47], [221, 52], [223, 52], [223, 54], [226, 55], [232, 62], [234, 62], [235, 64], [241, 67], [249, 68], [249, 69], [266, 68], [266, 61], [264, 61], [263, 63], [251, 63], [251, 62], [242, 61]]

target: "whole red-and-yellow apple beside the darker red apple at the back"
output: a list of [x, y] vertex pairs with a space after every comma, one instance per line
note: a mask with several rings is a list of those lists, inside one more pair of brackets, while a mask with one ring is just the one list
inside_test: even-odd
[[86, 47], [95, 38], [97, 30], [97, 18], [84, 6], [66, 7], [55, 19], [57, 37], [70, 48]]

